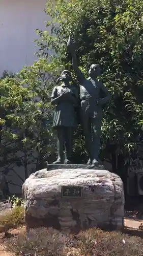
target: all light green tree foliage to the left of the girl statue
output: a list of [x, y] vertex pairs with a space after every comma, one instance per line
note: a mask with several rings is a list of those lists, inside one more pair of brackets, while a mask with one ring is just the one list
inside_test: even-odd
[[[4, 173], [14, 171], [14, 164], [23, 166], [25, 179], [34, 170], [44, 167], [54, 155], [54, 134], [51, 130], [51, 88], [58, 71], [57, 61], [40, 59], [24, 67], [15, 78], [0, 81], [2, 110], [1, 167]], [[17, 174], [20, 178], [20, 174]], [[24, 180], [21, 178], [21, 181]]]

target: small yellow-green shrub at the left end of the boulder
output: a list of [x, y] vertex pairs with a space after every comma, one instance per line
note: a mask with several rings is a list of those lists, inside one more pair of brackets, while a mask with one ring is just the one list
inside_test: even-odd
[[9, 227], [18, 227], [24, 224], [24, 209], [23, 205], [16, 206], [10, 211], [0, 215], [0, 225]]

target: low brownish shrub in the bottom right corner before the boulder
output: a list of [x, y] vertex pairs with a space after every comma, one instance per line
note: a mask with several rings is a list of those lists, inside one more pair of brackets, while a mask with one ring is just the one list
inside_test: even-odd
[[80, 232], [76, 239], [79, 255], [142, 255], [142, 239], [130, 237], [120, 232], [105, 232], [100, 229], [90, 229], [87, 232]]

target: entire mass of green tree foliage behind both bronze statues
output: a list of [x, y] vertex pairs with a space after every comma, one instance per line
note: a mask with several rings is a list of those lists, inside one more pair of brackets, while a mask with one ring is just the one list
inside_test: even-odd
[[[69, 34], [77, 42], [82, 72], [88, 76], [90, 65], [98, 63], [111, 94], [103, 110], [101, 158], [111, 162], [114, 172], [126, 163], [142, 165], [142, 4], [142, 0], [48, 1], [48, 29], [37, 30], [38, 56], [45, 58], [17, 76], [5, 72], [0, 80], [0, 152], [6, 174], [16, 163], [24, 167], [26, 178], [54, 158], [49, 96], [63, 69], [71, 70], [75, 78], [66, 46]], [[79, 125], [73, 160], [84, 163], [86, 156]]]

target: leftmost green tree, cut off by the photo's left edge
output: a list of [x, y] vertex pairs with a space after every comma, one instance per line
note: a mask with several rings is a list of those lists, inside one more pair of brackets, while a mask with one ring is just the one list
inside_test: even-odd
[[[0, 94], [0, 167], [1, 174], [5, 177], [17, 162], [16, 154], [18, 151], [17, 135], [13, 129], [13, 120], [10, 117], [13, 116], [19, 104], [30, 98], [30, 94], [26, 88], [20, 86], [16, 78], [7, 75], [0, 80]], [[7, 190], [7, 187], [5, 189]]]

